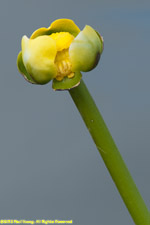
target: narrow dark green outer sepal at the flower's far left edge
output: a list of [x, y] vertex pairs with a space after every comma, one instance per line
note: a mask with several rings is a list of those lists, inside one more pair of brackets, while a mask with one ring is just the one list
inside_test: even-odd
[[38, 84], [36, 83], [32, 77], [29, 75], [29, 73], [27, 72], [24, 64], [23, 64], [23, 60], [22, 60], [22, 52], [19, 52], [18, 57], [17, 57], [17, 67], [19, 72], [22, 74], [22, 76], [25, 78], [25, 80], [27, 80], [29, 83], [31, 84]]

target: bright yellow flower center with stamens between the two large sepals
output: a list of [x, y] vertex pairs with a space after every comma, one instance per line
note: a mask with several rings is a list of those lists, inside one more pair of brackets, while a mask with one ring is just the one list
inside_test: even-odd
[[64, 77], [72, 78], [72, 65], [69, 59], [69, 46], [74, 36], [68, 32], [53, 33], [50, 37], [56, 41], [57, 54], [55, 57], [55, 65], [57, 68], [56, 80], [61, 81]]

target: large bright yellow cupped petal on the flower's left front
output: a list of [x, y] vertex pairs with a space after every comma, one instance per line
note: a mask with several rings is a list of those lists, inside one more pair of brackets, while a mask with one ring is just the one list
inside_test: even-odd
[[56, 75], [54, 64], [56, 43], [49, 36], [35, 39], [22, 38], [22, 59], [27, 72], [40, 84], [49, 82]]

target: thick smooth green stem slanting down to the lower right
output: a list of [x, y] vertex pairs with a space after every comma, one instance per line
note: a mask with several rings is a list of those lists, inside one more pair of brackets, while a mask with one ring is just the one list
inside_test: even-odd
[[69, 93], [135, 224], [150, 225], [150, 213], [83, 80]]

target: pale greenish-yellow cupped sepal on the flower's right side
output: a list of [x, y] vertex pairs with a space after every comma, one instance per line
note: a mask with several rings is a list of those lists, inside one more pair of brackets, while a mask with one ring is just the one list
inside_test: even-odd
[[99, 62], [102, 50], [103, 41], [100, 35], [86, 25], [69, 47], [72, 71], [88, 72], [94, 69]]

